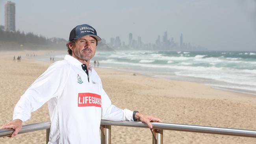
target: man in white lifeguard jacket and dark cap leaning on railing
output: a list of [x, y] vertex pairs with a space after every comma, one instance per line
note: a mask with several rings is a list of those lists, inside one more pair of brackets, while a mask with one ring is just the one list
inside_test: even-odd
[[71, 30], [67, 48], [69, 55], [57, 61], [35, 80], [15, 106], [13, 121], [1, 128], [19, 132], [31, 112], [48, 102], [51, 120], [48, 144], [100, 144], [100, 120], [139, 120], [152, 128], [150, 122], [160, 119], [146, 114], [119, 109], [111, 104], [101, 80], [90, 60], [100, 41], [96, 30], [87, 24]]

